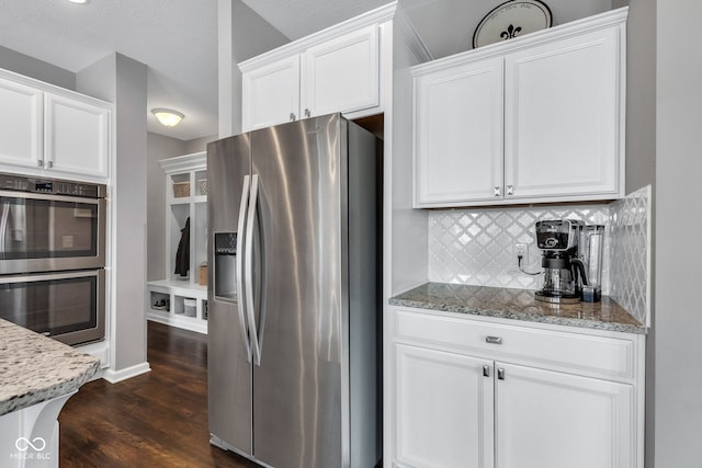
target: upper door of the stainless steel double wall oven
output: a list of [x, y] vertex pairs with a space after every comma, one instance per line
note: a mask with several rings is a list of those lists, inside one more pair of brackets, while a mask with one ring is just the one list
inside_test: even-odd
[[104, 198], [0, 191], [0, 274], [104, 265]]

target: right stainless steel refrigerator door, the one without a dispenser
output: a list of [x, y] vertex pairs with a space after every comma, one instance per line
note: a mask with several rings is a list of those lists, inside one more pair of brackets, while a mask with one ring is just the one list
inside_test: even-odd
[[332, 115], [251, 134], [261, 352], [253, 366], [253, 456], [275, 468], [340, 467], [348, 449], [347, 169], [339, 126]]

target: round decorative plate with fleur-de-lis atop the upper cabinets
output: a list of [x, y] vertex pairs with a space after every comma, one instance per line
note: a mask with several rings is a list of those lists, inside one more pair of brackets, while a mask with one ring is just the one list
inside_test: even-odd
[[551, 27], [551, 10], [539, 0], [510, 0], [485, 15], [473, 33], [473, 48]]

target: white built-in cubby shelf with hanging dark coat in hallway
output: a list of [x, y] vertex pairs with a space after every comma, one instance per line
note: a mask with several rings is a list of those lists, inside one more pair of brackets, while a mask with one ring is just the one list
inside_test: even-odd
[[[147, 318], [207, 333], [207, 286], [201, 266], [207, 261], [206, 153], [159, 161], [166, 173], [166, 278], [147, 283]], [[178, 271], [177, 252], [189, 224], [188, 271]], [[181, 269], [182, 270], [182, 269]], [[185, 273], [185, 274], [183, 274]]]

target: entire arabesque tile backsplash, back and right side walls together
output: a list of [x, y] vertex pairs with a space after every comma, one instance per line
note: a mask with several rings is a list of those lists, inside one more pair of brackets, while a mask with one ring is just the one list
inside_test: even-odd
[[648, 317], [650, 187], [600, 205], [475, 208], [429, 213], [429, 281], [537, 289], [542, 275], [517, 267], [516, 243], [528, 244], [528, 272], [541, 272], [534, 224], [579, 219], [604, 225], [602, 294], [642, 322]]

